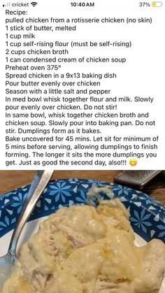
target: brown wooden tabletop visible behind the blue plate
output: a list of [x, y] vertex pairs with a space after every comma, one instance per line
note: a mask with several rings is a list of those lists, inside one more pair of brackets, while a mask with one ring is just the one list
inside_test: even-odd
[[[0, 194], [31, 183], [36, 171], [0, 171]], [[55, 171], [52, 179], [88, 178], [113, 183], [113, 178], [120, 171]], [[149, 183], [143, 192], [162, 201], [165, 205], [165, 176], [160, 174], [152, 183]]]

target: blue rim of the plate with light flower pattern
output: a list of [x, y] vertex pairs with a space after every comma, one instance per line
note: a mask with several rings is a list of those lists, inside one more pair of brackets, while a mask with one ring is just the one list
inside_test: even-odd
[[[129, 210], [134, 231], [145, 241], [159, 238], [165, 242], [165, 207], [162, 203], [143, 192], [99, 180], [69, 178], [50, 181], [29, 220], [49, 215], [62, 206], [84, 204], [87, 190], [92, 187], [92, 184], [112, 187], [115, 197], [120, 198]], [[15, 227], [28, 190], [29, 185], [0, 196], [0, 236]], [[101, 194], [101, 196], [103, 199], [107, 199], [106, 194]]]

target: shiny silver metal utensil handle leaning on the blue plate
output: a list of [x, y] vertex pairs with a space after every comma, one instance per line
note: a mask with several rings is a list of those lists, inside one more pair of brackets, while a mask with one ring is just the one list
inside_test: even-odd
[[34, 210], [34, 206], [36, 206], [36, 202], [38, 201], [41, 193], [50, 180], [52, 173], [52, 170], [37, 171], [36, 175], [34, 176], [34, 180], [31, 183], [31, 187], [27, 194], [27, 199], [24, 201], [20, 217], [17, 220], [13, 235], [10, 239], [8, 253], [11, 255], [11, 257], [13, 257], [13, 259], [16, 257], [17, 241], [20, 238], [24, 224], [27, 222], [29, 216]]

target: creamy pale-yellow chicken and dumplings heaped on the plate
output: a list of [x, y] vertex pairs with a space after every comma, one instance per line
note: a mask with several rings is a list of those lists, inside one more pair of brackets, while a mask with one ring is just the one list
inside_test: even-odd
[[156, 293], [165, 245], [134, 245], [129, 213], [119, 199], [59, 208], [22, 245], [2, 293]]

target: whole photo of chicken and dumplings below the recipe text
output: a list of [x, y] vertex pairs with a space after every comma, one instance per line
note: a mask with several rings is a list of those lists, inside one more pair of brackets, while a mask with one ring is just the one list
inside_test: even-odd
[[0, 171], [0, 293], [164, 293], [165, 171]]

